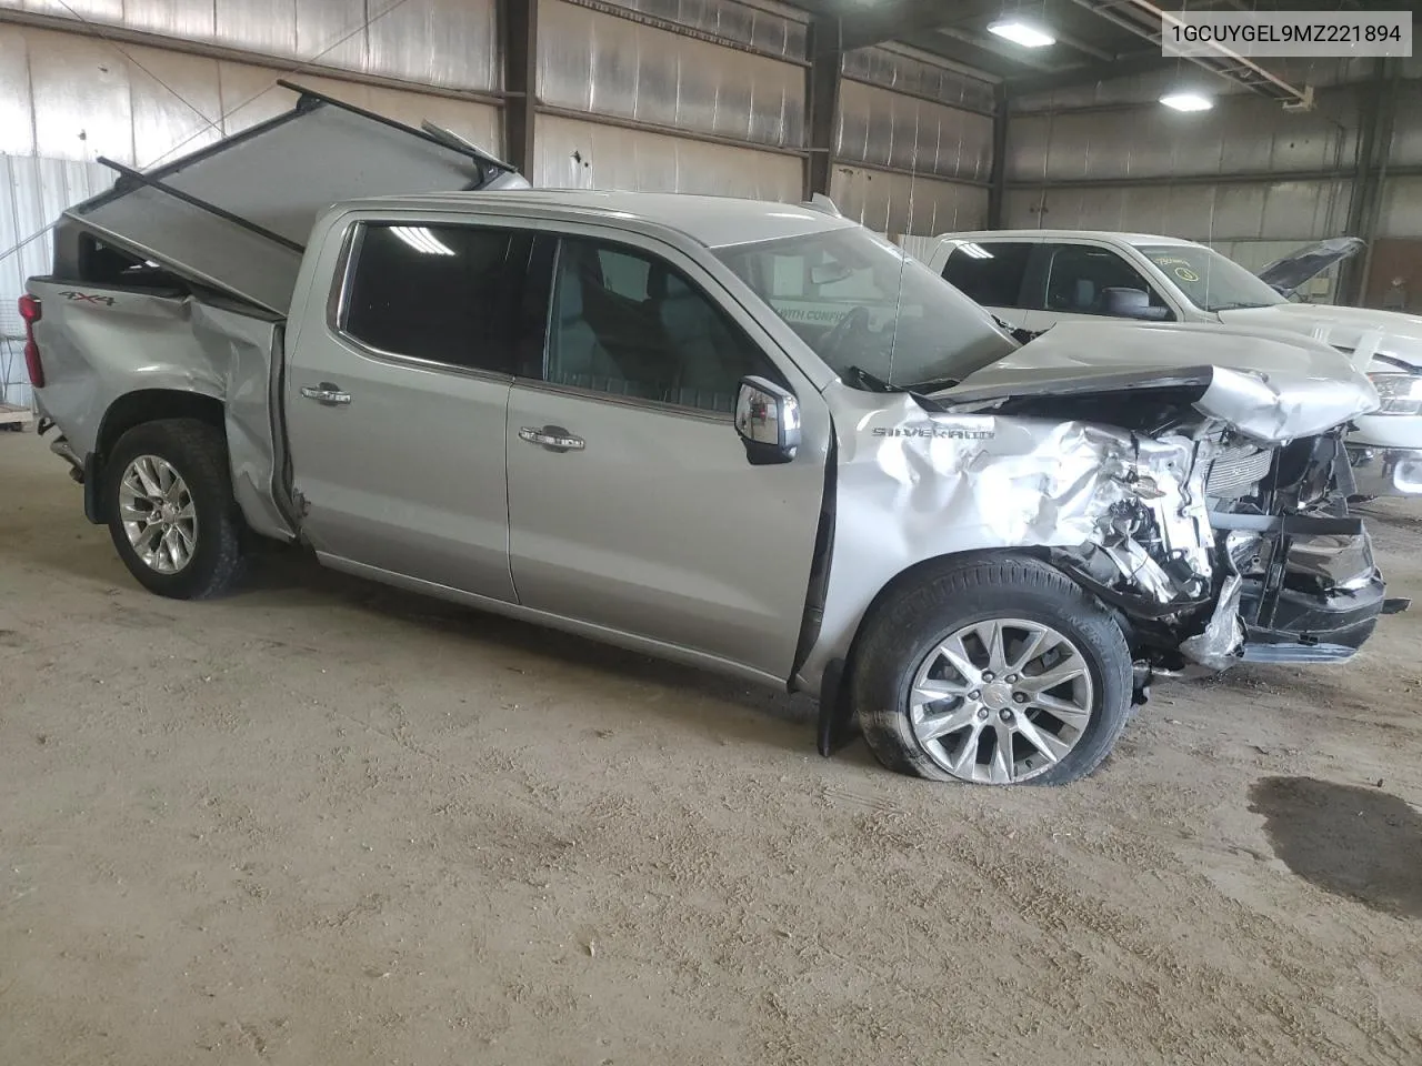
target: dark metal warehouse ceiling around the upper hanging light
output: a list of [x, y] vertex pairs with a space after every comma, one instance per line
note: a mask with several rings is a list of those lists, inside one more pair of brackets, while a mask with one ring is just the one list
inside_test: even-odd
[[[1219, 10], [1396, 10], [1398, 0], [796, 0], [838, 34], [845, 48], [882, 41], [933, 53], [990, 81], [1022, 91], [1065, 88], [1175, 67], [1203, 68], [1209, 77], [1285, 104], [1307, 97], [1307, 67], [1281, 60], [1210, 55], [1196, 60], [1160, 54], [1160, 14], [1185, 9]], [[1057, 38], [1047, 48], [1024, 48], [988, 33], [1004, 16], [1020, 16]], [[1303, 75], [1303, 77], [1301, 77]]]

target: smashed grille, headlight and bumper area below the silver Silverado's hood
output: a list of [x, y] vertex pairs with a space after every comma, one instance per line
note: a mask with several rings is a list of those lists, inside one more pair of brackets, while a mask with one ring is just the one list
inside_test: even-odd
[[1341, 432], [1268, 448], [1217, 426], [1142, 442], [1098, 539], [1054, 561], [1115, 607], [1152, 672], [1340, 662], [1402, 604], [1347, 513]]

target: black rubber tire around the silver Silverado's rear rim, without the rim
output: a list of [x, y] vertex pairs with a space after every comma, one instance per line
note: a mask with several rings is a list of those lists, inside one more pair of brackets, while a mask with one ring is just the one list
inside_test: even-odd
[[[118, 495], [134, 459], [166, 461], [186, 482], [196, 513], [196, 547], [176, 573], [159, 573], [128, 542]], [[242, 574], [243, 522], [232, 495], [228, 443], [222, 431], [195, 418], [145, 422], [124, 434], [104, 461], [102, 513], [114, 547], [148, 591], [172, 600], [206, 600], [228, 591]]]

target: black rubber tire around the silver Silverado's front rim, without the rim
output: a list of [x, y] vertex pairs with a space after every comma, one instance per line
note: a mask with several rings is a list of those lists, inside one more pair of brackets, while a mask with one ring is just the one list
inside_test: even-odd
[[890, 770], [961, 780], [914, 735], [909, 694], [933, 648], [954, 631], [993, 618], [1057, 630], [1081, 652], [1094, 688], [1092, 714], [1075, 746], [1051, 769], [1012, 783], [1065, 785], [1085, 777], [1111, 753], [1130, 716], [1130, 650], [1101, 603], [1031, 557], [950, 561], [876, 604], [865, 620], [853, 669], [855, 709], [869, 749]]

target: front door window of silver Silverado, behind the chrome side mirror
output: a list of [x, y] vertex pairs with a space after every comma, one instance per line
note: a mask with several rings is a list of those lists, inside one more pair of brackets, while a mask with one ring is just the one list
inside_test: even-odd
[[550, 382], [731, 414], [748, 374], [781, 379], [678, 270], [633, 249], [563, 240], [547, 337]]

